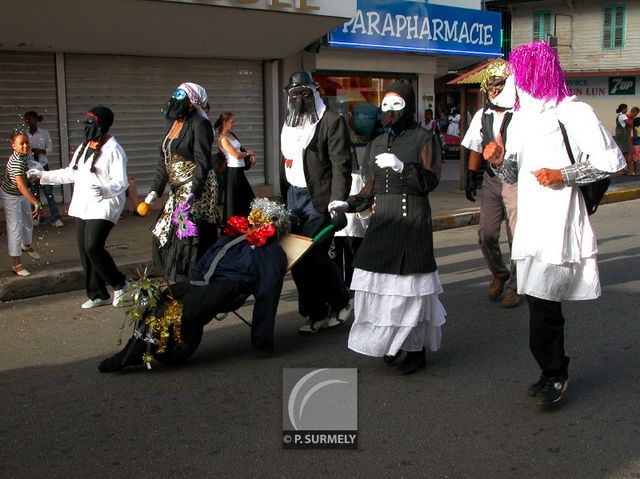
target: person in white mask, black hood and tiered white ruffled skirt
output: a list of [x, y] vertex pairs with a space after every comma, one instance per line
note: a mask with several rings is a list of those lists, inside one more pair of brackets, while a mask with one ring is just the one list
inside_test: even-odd
[[386, 363], [405, 351], [403, 374], [426, 365], [427, 347], [440, 348], [446, 319], [429, 205], [440, 178], [440, 150], [433, 133], [416, 123], [415, 104], [411, 85], [387, 89], [381, 108], [387, 131], [367, 145], [365, 186], [346, 202], [329, 204], [331, 214], [373, 209], [354, 260], [349, 348]]

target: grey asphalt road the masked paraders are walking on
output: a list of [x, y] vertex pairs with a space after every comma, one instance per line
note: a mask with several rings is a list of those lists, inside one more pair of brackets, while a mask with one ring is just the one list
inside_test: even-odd
[[[97, 364], [121, 310], [82, 310], [81, 292], [1, 304], [2, 477], [640, 477], [639, 207], [594, 217], [604, 294], [565, 304], [571, 380], [551, 413], [525, 394], [538, 374], [526, 305], [485, 300], [475, 227], [436, 234], [448, 322], [410, 377], [350, 352], [347, 328], [299, 336], [290, 280], [274, 356], [229, 318], [183, 367], [111, 375]], [[281, 448], [292, 367], [358, 368], [357, 450]]]

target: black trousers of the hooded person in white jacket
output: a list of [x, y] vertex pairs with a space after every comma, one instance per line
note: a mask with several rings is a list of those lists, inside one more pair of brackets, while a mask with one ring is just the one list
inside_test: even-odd
[[126, 281], [104, 247], [113, 226], [113, 223], [107, 220], [76, 220], [78, 251], [89, 299], [109, 299], [106, 285], [113, 289], [121, 289]]

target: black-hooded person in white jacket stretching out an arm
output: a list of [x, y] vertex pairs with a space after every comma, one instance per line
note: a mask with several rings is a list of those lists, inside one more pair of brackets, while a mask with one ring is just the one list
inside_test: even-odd
[[[84, 309], [106, 304], [121, 306], [127, 292], [125, 276], [105, 249], [107, 237], [124, 208], [129, 184], [127, 155], [109, 135], [113, 119], [109, 108], [92, 108], [84, 119], [84, 141], [76, 148], [68, 167], [27, 172], [43, 185], [74, 185], [69, 216], [76, 217], [76, 237], [89, 298], [82, 304]], [[113, 301], [107, 284], [114, 290]]]

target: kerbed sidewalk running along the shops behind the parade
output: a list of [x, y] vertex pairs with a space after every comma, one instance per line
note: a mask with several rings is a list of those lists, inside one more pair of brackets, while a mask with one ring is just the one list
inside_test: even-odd
[[[471, 203], [459, 189], [458, 160], [446, 160], [442, 181], [430, 195], [434, 230], [458, 228], [478, 223], [482, 190]], [[256, 188], [257, 195], [271, 195], [265, 188]], [[640, 198], [640, 177], [612, 178], [612, 184], [603, 203]], [[66, 211], [68, 205], [62, 206]], [[125, 215], [109, 235], [107, 249], [127, 277], [135, 277], [136, 269], [151, 263], [150, 228], [158, 214], [158, 207], [147, 217]], [[6, 234], [0, 235], [0, 300], [8, 301], [44, 294], [61, 293], [84, 288], [82, 266], [78, 258], [75, 238], [75, 219], [64, 217], [62, 228], [50, 225], [34, 228], [33, 243], [40, 260], [23, 255], [23, 264], [31, 276], [17, 277], [11, 272], [7, 254]], [[2, 219], [4, 232], [4, 219]]]

